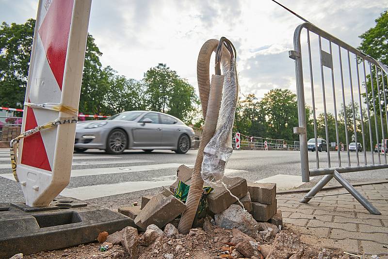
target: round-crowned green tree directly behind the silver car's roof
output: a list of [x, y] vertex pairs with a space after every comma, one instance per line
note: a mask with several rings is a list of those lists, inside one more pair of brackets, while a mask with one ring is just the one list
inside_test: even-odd
[[145, 100], [152, 111], [168, 113], [190, 122], [194, 103], [198, 103], [194, 87], [166, 64], [151, 67], [144, 74]]

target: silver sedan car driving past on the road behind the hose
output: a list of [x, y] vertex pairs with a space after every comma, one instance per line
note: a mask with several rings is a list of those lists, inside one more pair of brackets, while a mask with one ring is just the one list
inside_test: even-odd
[[186, 153], [194, 142], [194, 130], [178, 118], [158, 112], [118, 113], [107, 120], [77, 123], [74, 150], [104, 149], [121, 154], [125, 149], [170, 149]]

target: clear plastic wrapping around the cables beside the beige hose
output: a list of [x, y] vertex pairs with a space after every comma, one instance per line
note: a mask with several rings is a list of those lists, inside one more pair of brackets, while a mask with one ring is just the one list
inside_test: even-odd
[[225, 75], [224, 91], [217, 128], [214, 136], [204, 149], [201, 177], [211, 184], [220, 184], [225, 174], [225, 167], [232, 155], [232, 129], [236, 110], [238, 80], [234, 61], [223, 66]]

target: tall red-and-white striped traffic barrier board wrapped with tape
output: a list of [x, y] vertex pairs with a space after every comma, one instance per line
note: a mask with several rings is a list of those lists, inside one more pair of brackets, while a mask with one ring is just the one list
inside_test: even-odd
[[[91, 0], [40, 0], [25, 102], [78, 110]], [[22, 131], [74, 114], [26, 107]], [[75, 123], [20, 141], [17, 177], [28, 206], [46, 206], [70, 181]]]

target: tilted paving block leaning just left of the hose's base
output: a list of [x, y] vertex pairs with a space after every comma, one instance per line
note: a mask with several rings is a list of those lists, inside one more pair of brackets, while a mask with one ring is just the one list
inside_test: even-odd
[[157, 194], [149, 200], [134, 221], [142, 229], [151, 224], [162, 228], [180, 215], [185, 208], [186, 205], [173, 195], [165, 197], [163, 194]]

